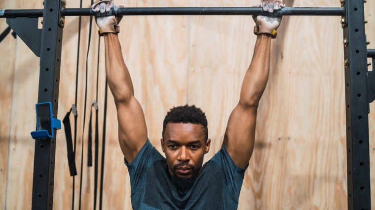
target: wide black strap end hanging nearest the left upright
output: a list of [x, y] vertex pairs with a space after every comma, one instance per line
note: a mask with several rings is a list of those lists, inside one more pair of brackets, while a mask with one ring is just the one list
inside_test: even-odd
[[73, 140], [72, 140], [72, 128], [70, 124], [70, 114], [72, 112], [72, 109], [65, 115], [63, 124], [64, 124], [64, 130], [65, 130], [65, 137], [67, 139], [67, 150], [68, 150], [68, 165], [69, 165], [69, 172], [70, 175], [73, 177], [77, 175], [77, 170], [75, 168], [75, 157], [74, 157], [74, 151], [73, 151]]

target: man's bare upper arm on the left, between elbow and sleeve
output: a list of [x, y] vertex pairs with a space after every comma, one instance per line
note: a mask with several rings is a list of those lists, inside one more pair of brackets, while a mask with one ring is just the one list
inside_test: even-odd
[[133, 96], [117, 102], [118, 141], [128, 163], [132, 162], [147, 141], [147, 126], [141, 104]]

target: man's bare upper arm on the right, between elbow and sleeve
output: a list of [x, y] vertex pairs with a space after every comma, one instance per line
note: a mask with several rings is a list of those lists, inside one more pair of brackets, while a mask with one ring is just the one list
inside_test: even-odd
[[237, 105], [229, 116], [224, 135], [225, 148], [233, 162], [245, 168], [254, 150], [257, 107]]

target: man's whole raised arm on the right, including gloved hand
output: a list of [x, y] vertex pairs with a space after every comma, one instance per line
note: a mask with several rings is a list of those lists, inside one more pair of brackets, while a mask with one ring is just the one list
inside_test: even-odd
[[[279, 6], [284, 7], [283, 4], [278, 4], [278, 2], [273, 0], [263, 0], [263, 2], [267, 3], [262, 4], [263, 9], [266, 6], [269, 12], [272, 12], [273, 9], [279, 9]], [[277, 7], [275, 3], [278, 4]], [[270, 9], [271, 7], [272, 9]], [[225, 149], [228, 151], [233, 162], [241, 168], [245, 168], [248, 165], [254, 150], [257, 109], [269, 74], [272, 37], [270, 33], [278, 27], [278, 24], [276, 26], [269, 25], [271, 21], [268, 18], [258, 18], [255, 17], [255, 21], [260, 27], [259, 31], [263, 33], [257, 36], [253, 59], [242, 83], [240, 100], [229, 116], [224, 135]], [[273, 24], [274, 21], [272, 21]]]

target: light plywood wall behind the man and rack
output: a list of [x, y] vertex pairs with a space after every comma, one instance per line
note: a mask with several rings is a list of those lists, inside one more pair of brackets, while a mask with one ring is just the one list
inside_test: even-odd
[[[116, 0], [125, 7], [251, 6], [258, 0]], [[288, 6], [338, 7], [337, 0], [287, 0]], [[90, 5], [83, 0], [83, 7]], [[68, 7], [79, 7], [69, 1]], [[0, 8], [42, 8], [41, 0], [0, 1]], [[365, 4], [367, 37], [375, 48], [375, 2]], [[271, 69], [257, 118], [256, 147], [246, 171], [239, 209], [300, 210], [347, 208], [345, 95], [342, 29], [339, 17], [284, 17], [272, 40]], [[78, 17], [67, 17], [63, 35], [58, 118], [75, 102]], [[83, 143], [82, 210], [93, 208], [94, 168], [87, 167], [90, 107], [96, 98], [98, 36], [94, 25], [88, 56], [84, 113], [85, 62], [89, 17], [82, 17], [79, 72], [75, 209]], [[246, 16], [124, 17], [119, 34], [122, 55], [145, 112], [149, 138], [159, 150], [162, 120], [173, 106], [195, 104], [208, 117], [212, 148], [220, 149], [229, 114], [239, 99], [256, 36]], [[6, 28], [0, 19], [0, 30]], [[102, 141], [105, 90], [104, 45], [99, 69], [99, 135]], [[0, 209], [31, 209], [35, 103], [39, 59], [11, 36], [0, 44]], [[4, 50], [5, 49], [5, 50]], [[5, 91], [4, 91], [5, 90]], [[370, 157], [375, 157], [375, 106], [371, 104]], [[85, 124], [83, 120], [85, 116]], [[95, 116], [95, 115], [94, 115]], [[73, 117], [71, 118], [72, 125]], [[131, 123], [131, 122], [129, 122]], [[84, 127], [84, 132], [83, 132]], [[103, 208], [131, 209], [130, 181], [118, 146], [116, 111], [108, 96]], [[82, 138], [83, 136], [83, 138]], [[99, 144], [101, 151], [102, 144]], [[57, 132], [54, 209], [72, 206], [63, 129]], [[371, 161], [372, 175], [375, 161]], [[374, 176], [372, 176], [374, 177]], [[375, 179], [372, 179], [375, 198]], [[6, 203], [6, 206], [5, 206]], [[373, 209], [375, 204], [373, 202]]]

